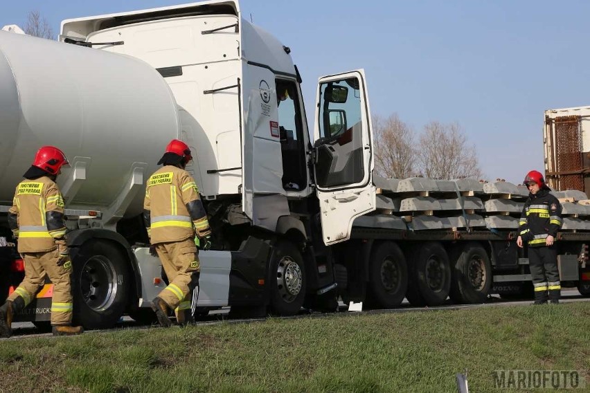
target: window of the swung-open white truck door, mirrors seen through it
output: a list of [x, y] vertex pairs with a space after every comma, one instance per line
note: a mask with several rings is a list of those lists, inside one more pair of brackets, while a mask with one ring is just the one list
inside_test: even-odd
[[364, 178], [359, 80], [320, 86], [316, 182], [321, 187], [359, 183]]

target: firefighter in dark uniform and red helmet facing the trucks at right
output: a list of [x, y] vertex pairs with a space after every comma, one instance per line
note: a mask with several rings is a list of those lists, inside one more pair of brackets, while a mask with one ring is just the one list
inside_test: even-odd
[[555, 237], [562, 226], [560, 201], [549, 193], [543, 175], [530, 171], [524, 178], [528, 199], [519, 221], [517, 245], [528, 243], [528, 264], [535, 288], [535, 304], [560, 302], [561, 283], [557, 268]]

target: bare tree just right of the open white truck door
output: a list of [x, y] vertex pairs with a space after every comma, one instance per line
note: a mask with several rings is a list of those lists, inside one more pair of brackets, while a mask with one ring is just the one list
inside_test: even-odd
[[414, 133], [396, 113], [373, 116], [375, 171], [379, 176], [406, 179], [414, 174]]

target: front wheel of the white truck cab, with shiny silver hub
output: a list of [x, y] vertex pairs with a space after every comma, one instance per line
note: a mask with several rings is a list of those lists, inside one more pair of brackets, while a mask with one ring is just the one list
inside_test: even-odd
[[301, 253], [288, 241], [279, 241], [271, 257], [270, 311], [278, 316], [294, 316], [305, 300], [305, 265]]

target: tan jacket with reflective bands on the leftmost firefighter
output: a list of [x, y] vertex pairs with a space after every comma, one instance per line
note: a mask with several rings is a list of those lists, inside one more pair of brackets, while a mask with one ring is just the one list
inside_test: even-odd
[[66, 234], [64, 198], [48, 176], [24, 180], [17, 185], [8, 225], [19, 239], [19, 253], [55, 249], [55, 240]]

